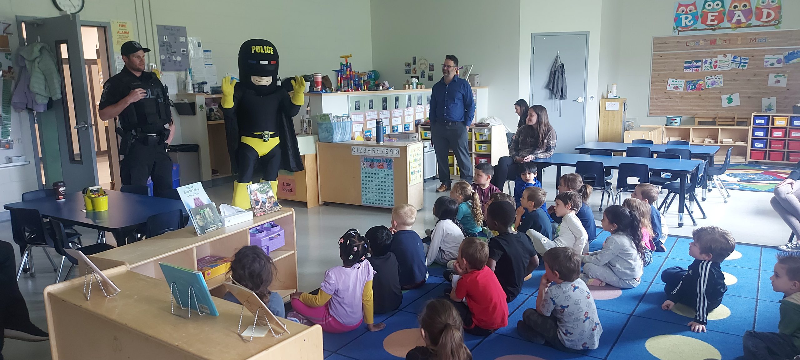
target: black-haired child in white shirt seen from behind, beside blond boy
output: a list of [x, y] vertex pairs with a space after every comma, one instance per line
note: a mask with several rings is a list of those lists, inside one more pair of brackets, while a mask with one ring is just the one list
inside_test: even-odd
[[458, 247], [466, 236], [455, 218], [457, 214], [458, 203], [450, 197], [442, 196], [434, 203], [436, 226], [430, 231], [430, 237], [422, 239], [426, 265], [434, 262], [447, 265], [458, 257]]

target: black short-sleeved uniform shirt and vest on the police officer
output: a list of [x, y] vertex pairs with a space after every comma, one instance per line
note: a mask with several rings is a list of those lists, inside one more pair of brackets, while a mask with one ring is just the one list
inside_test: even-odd
[[[131, 73], [127, 67], [123, 67], [122, 71], [118, 74], [114, 75], [110, 79], [106, 81], [103, 85], [102, 89], [102, 97], [100, 97], [100, 106], [99, 109], [105, 109], [110, 105], [114, 105], [119, 101], [122, 101], [123, 98], [128, 96], [130, 90], [138, 89], [138, 88], [146, 88], [147, 86], [143, 86], [144, 84], [150, 83], [152, 81], [154, 86], [158, 86], [161, 88], [162, 82], [155, 76], [154, 73], [149, 71], [142, 71], [141, 76], [136, 76], [134, 73]], [[144, 101], [146, 99], [142, 99], [140, 101]], [[134, 104], [128, 105], [122, 113], [119, 113], [119, 121], [122, 129], [125, 130], [134, 130], [137, 128], [142, 129], [142, 133], [151, 133], [151, 134], [158, 134], [164, 131], [163, 125], [136, 125], [138, 124], [138, 120], [136, 119], [137, 113], [134, 110]], [[140, 115], [141, 116], [141, 115]], [[171, 113], [167, 115], [168, 117], [172, 117]], [[172, 121], [170, 120], [170, 123]], [[147, 124], [146, 119], [142, 119], [141, 124]], [[131, 126], [133, 125], [133, 126]]]

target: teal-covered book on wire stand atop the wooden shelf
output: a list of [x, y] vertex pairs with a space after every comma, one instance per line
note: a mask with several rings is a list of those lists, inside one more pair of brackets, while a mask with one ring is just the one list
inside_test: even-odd
[[[180, 307], [189, 307], [202, 314], [218, 316], [217, 307], [211, 299], [206, 280], [202, 278], [200, 271], [194, 271], [185, 267], [179, 267], [171, 263], [158, 263], [161, 272], [166, 279], [166, 285], [172, 291], [175, 303]], [[174, 284], [174, 285], [173, 285]], [[190, 288], [192, 289], [190, 294]]]

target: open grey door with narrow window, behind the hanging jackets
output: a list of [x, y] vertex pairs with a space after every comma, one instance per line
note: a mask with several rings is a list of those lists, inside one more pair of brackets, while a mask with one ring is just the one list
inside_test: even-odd
[[[61, 179], [70, 191], [97, 185], [95, 124], [86, 83], [81, 20], [78, 14], [25, 19], [22, 20], [22, 29], [22, 45], [35, 42], [48, 45], [61, 77], [61, 99], [53, 101], [53, 107], [41, 116], [53, 120], [47, 124], [55, 126], [58, 148], [42, 144], [42, 158], [60, 158]], [[54, 153], [55, 150], [58, 153]], [[50, 180], [58, 179], [58, 176], [48, 177]]]

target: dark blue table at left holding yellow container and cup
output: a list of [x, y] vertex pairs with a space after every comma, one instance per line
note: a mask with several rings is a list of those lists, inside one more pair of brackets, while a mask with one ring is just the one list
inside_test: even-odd
[[110, 231], [117, 240], [117, 246], [125, 245], [126, 235], [147, 223], [147, 218], [162, 212], [181, 210], [186, 217], [186, 208], [181, 200], [144, 196], [130, 192], [106, 190], [108, 210], [105, 212], [86, 212], [82, 192], [66, 194], [66, 200], [58, 202], [52, 196], [36, 200], [6, 204], [6, 210], [15, 208], [36, 209], [42, 216], [89, 227], [98, 231]]

